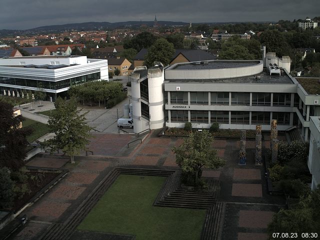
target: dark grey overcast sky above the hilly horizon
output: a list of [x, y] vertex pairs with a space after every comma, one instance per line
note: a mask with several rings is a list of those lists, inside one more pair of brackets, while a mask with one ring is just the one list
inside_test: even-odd
[[320, 15], [319, 0], [0, 0], [0, 29], [87, 21], [225, 22]]

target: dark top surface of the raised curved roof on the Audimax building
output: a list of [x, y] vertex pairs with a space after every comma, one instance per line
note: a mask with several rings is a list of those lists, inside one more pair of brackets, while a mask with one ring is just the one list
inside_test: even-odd
[[257, 65], [259, 63], [259, 60], [213, 60], [178, 63], [176, 65], [172, 65], [172, 67], [169, 68], [174, 70], [225, 69], [252, 66]]

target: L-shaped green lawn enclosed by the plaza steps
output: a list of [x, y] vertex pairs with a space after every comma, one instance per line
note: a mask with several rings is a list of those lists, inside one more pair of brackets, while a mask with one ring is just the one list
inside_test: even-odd
[[144, 239], [200, 238], [204, 209], [152, 206], [165, 177], [119, 175], [78, 230], [136, 235]]

